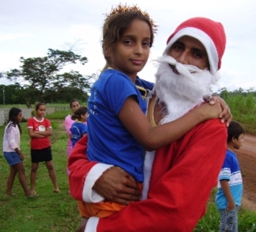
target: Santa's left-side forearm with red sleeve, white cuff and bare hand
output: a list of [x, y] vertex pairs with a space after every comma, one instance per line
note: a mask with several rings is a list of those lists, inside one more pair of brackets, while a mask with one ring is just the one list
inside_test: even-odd
[[73, 198], [93, 203], [106, 198], [125, 205], [138, 201], [140, 192], [131, 175], [121, 168], [88, 160], [87, 141], [87, 135], [77, 141], [68, 158], [68, 179]]

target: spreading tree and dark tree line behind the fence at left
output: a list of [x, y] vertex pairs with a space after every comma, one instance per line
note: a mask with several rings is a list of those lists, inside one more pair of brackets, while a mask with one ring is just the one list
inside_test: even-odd
[[[70, 70], [61, 73], [68, 64], [86, 64], [88, 59], [70, 50], [48, 49], [44, 57], [20, 57], [20, 67], [0, 73], [0, 78], [15, 82], [0, 85], [0, 104], [67, 103], [77, 98], [87, 101], [95, 75], [81, 75]], [[3, 99], [1, 101], [1, 99]]]

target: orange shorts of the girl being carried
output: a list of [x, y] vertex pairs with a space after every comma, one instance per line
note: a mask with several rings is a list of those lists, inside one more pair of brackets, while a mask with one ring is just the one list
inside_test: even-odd
[[[142, 191], [143, 184], [138, 183], [140, 191]], [[108, 217], [109, 215], [122, 210], [127, 207], [111, 201], [102, 201], [100, 203], [86, 203], [77, 201], [79, 213], [82, 217]]]

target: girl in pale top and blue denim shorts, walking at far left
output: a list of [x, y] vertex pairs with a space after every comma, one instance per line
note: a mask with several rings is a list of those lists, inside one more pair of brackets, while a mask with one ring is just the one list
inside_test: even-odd
[[25, 169], [22, 161], [24, 156], [20, 151], [20, 134], [22, 130], [19, 122], [22, 120], [22, 112], [19, 108], [12, 108], [9, 112], [8, 124], [4, 129], [3, 136], [3, 152], [4, 158], [10, 165], [10, 175], [7, 180], [6, 195], [13, 196], [12, 186], [16, 174], [19, 174], [19, 182], [24, 189], [26, 196], [36, 196], [33, 192], [29, 191], [25, 177]]

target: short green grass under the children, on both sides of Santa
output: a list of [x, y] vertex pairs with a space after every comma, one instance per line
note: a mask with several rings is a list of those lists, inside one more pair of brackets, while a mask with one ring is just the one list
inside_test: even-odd
[[[67, 134], [63, 126], [65, 116], [70, 112], [56, 112], [47, 115], [51, 119], [53, 135], [52, 156], [54, 168], [60, 186], [60, 194], [52, 192], [53, 185], [44, 163], [40, 164], [36, 179], [36, 198], [26, 198], [19, 181], [13, 185], [15, 196], [4, 196], [9, 166], [2, 153], [0, 154], [0, 231], [1, 232], [68, 232], [76, 231], [80, 221], [76, 201], [68, 194], [68, 180], [66, 173]], [[61, 120], [60, 120], [61, 119]], [[30, 156], [29, 136], [26, 123], [22, 123], [24, 133], [21, 136], [21, 150], [25, 155], [24, 166], [29, 182]], [[0, 144], [3, 140], [3, 129], [0, 127]], [[2, 144], [1, 144], [2, 147]], [[219, 214], [214, 205], [214, 191], [209, 199], [207, 214], [198, 222], [196, 232], [218, 231]], [[196, 210], [196, 209], [195, 209]], [[256, 212], [239, 210], [239, 232], [253, 232], [256, 224]]]

